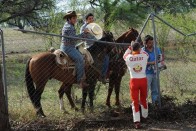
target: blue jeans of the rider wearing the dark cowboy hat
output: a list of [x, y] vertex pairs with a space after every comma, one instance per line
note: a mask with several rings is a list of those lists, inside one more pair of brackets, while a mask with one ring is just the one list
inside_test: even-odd
[[73, 59], [76, 63], [77, 82], [80, 82], [80, 80], [84, 76], [83, 56], [74, 46], [61, 44], [60, 49], [65, 52], [69, 57], [71, 57], [71, 59]]

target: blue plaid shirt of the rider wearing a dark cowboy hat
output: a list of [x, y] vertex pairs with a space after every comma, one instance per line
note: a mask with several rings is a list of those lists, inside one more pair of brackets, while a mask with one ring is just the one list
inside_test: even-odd
[[[85, 33], [81, 33], [79, 35], [76, 35], [76, 29], [74, 25], [70, 24], [69, 22], [66, 22], [62, 29], [62, 35], [65, 36], [73, 36], [73, 37], [85, 37]], [[65, 45], [75, 46], [77, 44], [78, 39], [71, 39], [62, 37], [62, 43]]]

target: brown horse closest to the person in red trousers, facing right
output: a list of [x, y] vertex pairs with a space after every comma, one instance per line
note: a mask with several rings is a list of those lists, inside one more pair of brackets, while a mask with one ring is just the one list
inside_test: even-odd
[[[133, 28], [129, 28], [129, 30], [123, 33], [117, 40], [117, 43], [131, 43], [135, 41], [138, 37], [139, 33], [137, 30]], [[120, 106], [119, 93], [120, 93], [120, 85], [122, 77], [126, 72], [126, 64], [123, 60], [123, 54], [127, 49], [128, 45], [119, 45], [113, 49], [110, 53], [110, 64], [109, 64], [109, 88], [108, 88], [108, 96], [106, 100], [106, 105], [111, 107], [110, 97], [113, 89], [115, 89], [116, 94], [116, 103], [115, 105]]]

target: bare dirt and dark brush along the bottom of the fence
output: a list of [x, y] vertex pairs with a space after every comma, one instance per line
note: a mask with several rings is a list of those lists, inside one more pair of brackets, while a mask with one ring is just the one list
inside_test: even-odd
[[[162, 107], [149, 104], [149, 117], [140, 130], [196, 130], [196, 101], [187, 100], [176, 105], [172, 97], [162, 97]], [[51, 121], [38, 118], [30, 123], [14, 125], [14, 130], [76, 130], [76, 131], [128, 131], [133, 126], [130, 107], [112, 108], [100, 114], [87, 112], [84, 118]]]

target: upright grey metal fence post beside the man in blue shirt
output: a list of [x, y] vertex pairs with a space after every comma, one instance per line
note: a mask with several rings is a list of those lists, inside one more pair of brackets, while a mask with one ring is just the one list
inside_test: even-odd
[[153, 27], [153, 34], [154, 34], [154, 53], [155, 53], [155, 70], [156, 70], [156, 82], [157, 82], [157, 87], [158, 87], [158, 101], [159, 101], [159, 107], [161, 108], [161, 93], [160, 93], [160, 81], [159, 81], [159, 68], [158, 68], [158, 50], [157, 50], [157, 37], [156, 37], [156, 27], [155, 27], [155, 22], [154, 22], [154, 14], [151, 13], [151, 19], [152, 19], [152, 27]]

